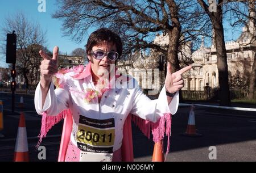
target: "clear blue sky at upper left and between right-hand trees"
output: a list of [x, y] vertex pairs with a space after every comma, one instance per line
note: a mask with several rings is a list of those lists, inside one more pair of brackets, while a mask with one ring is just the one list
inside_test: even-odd
[[[1, 0], [0, 1], [0, 27], [2, 21], [8, 16], [16, 14], [16, 12], [23, 12], [29, 20], [38, 22], [43, 31], [47, 31], [47, 48], [52, 51], [55, 45], [59, 46], [60, 52], [71, 54], [72, 50], [76, 48], [84, 48], [88, 36], [85, 36], [85, 40], [81, 44], [75, 43], [71, 40], [71, 37], [64, 37], [61, 32], [61, 20], [52, 19], [51, 15], [56, 11], [57, 5], [55, 0], [46, 0], [46, 12], [39, 12], [38, 0]], [[234, 40], [239, 36], [238, 32], [232, 32], [232, 28], [228, 23], [224, 23], [225, 40]], [[1, 28], [0, 28], [1, 29]], [[240, 29], [241, 30], [241, 29]], [[88, 31], [90, 34], [92, 31]], [[0, 54], [0, 67], [7, 67], [5, 63], [5, 54]]]

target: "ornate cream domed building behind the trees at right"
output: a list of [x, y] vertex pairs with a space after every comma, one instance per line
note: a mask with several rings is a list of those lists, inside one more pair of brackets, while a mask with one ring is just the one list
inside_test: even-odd
[[[249, 29], [242, 28], [242, 33], [236, 41], [227, 41], [225, 43], [228, 61], [229, 78], [240, 77], [240, 79], [249, 79], [253, 58], [256, 52], [256, 32], [253, 22], [249, 21]], [[183, 74], [185, 86], [182, 90], [188, 91], [203, 91], [205, 86], [210, 88], [219, 87], [218, 69], [217, 69], [217, 53], [214, 41], [211, 47], [206, 47], [204, 37], [201, 38], [200, 48], [192, 52], [192, 43], [187, 43], [181, 47], [179, 60], [188, 58], [193, 60], [192, 69]], [[167, 47], [168, 35], [156, 36], [154, 43]], [[154, 85], [149, 85], [147, 82], [147, 73], [140, 77], [145, 69], [158, 68], [159, 54], [150, 52], [146, 56], [142, 52], [135, 54], [129, 61], [118, 62], [118, 69], [129, 71], [139, 82], [142, 88], [150, 89]], [[161, 73], [159, 73], [161, 74]], [[161, 76], [159, 75], [161, 80]], [[154, 79], [153, 79], [154, 80]], [[164, 79], [162, 79], [164, 80]], [[161, 81], [159, 81], [161, 83]]]

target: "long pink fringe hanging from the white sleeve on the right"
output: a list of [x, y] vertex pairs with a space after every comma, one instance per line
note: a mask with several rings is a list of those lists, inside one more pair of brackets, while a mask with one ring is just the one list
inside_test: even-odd
[[[164, 134], [168, 137], [166, 157], [170, 151], [170, 136], [171, 136], [171, 114], [164, 113], [163, 116], [156, 123], [152, 123], [147, 120], [143, 120], [138, 116], [132, 116], [133, 122], [138, 126], [142, 133], [149, 139], [150, 130], [152, 131], [153, 141], [156, 143], [163, 140]], [[162, 146], [163, 149], [163, 146]], [[165, 160], [166, 160], [165, 157]]]

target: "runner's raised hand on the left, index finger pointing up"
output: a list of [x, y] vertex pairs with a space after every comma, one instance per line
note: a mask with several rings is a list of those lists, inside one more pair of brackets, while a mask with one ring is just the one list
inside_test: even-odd
[[43, 50], [39, 51], [40, 56], [43, 58], [43, 61], [40, 65], [41, 72], [41, 85], [43, 87], [48, 87], [49, 83], [52, 81], [52, 75], [58, 71], [58, 56], [59, 48], [53, 48], [53, 56], [49, 57]]

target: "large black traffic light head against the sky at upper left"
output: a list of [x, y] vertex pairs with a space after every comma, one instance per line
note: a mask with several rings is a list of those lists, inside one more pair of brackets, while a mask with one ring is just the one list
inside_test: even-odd
[[7, 33], [6, 39], [6, 63], [16, 63], [16, 40], [17, 35], [14, 33]]

